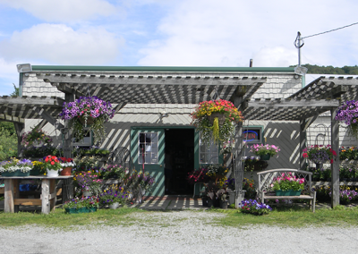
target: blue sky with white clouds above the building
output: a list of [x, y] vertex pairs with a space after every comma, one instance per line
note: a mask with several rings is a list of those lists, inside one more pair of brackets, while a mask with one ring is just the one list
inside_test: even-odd
[[[0, 96], [16, 64], [354, 66], [354, 0], [0, 0]], [[308, 38], [305, 38], [308, 37]]]

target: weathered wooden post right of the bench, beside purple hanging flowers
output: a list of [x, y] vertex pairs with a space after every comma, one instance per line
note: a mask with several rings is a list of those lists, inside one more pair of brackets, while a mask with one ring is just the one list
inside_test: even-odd
[[336, 109], [330, 110], [331, 116], [331, 146], [334, 151], [337, 152], [337, 157], [333, 160], [331, 164], [332, 170], [332, 182], [331, 182], [331, 207], [337, 207], [339, 205], [339, 124], [335, 119]]

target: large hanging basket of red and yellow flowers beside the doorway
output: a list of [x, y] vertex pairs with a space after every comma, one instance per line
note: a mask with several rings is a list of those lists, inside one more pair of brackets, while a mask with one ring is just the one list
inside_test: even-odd
[[232, 140], [236, 123], [243, 122], [243, 115], [234, 104], [224, 99], [200, 102], [191, 114], [192, 125], [200, 131], [201, 140], [211, 138], [218, 144]]

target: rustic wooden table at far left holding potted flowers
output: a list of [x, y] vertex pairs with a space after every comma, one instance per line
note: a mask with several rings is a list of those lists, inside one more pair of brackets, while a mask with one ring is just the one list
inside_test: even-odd
[[[49, 214], [55, 209], [56, 191], [55, 181], [73, 178], [73, 175], [59, 175], [48, 177], [46, 175], [30, 176], [0, 176], [4, 179], [4, 212], [14, 213], [19, 211], [21, 206], [42, 206], [41, 212]], [[41, 180], [41, 197], [40, 199], [20, 199], [20, 180], [39, 179]], [[14, 192], [16, 189], [16, 192]]]

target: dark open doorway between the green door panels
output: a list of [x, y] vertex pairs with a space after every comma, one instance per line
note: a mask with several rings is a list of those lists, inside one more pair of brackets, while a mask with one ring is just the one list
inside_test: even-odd
[[166, 194], [192, 194], [186, 180], [194, 169], [194, 129], [166, 129]]

